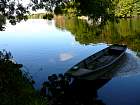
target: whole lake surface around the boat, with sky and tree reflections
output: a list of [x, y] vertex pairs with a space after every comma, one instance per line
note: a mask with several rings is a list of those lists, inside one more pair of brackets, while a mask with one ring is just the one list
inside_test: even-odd
[[98, 90], [106, 105], [140, 104], [140, 19], [108, 23], [101, 29], [77, 19], [28, 20], [7, 24], [0, 32], [0, 49], [11, 51], [40, 88], [47, 76], [64, 73], [75, 63], [107, 47], [127, 44], [128, 50], [113, 78]]

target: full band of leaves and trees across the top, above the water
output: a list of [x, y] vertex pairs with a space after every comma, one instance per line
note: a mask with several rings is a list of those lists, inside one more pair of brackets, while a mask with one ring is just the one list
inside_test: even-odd
[[93, 22], [106, 22], [114, 17], [131, 17], [140, 14], [140, 0], [31, 0], [23, 5], [22, 0], [0, 0], [0, 30], [4, 30], [5, 20], [15, 25], [26, 20], [29, 11], [44, 9], [47, 12], [68, 16], [84, 15]]

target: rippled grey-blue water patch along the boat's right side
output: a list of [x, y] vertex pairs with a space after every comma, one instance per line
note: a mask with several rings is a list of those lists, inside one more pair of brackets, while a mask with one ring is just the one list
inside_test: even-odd
[[140, 58], [137, 53], [127, 50], [113, 70], [105, 73], [104, 77], [128, 77], [140, 74]]

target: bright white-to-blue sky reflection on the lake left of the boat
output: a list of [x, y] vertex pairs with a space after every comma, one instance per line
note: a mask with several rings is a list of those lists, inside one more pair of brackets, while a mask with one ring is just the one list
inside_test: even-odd
[[28, 20], [7, 25], [0, 32], [0, 48], [11, 51], [36, 81], [36, 87], [52, 73], [63, 73], [75, 63], [106, 47], [105, 44], [80, 45], [68, 31], [54, 21]]

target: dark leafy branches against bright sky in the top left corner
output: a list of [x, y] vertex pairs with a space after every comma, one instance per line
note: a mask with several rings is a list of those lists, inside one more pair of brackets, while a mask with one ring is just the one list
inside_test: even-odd
[[28, 5], [23, 6], [22, 0], [0, 0], [0, 30], [4, 30], [5, 19], [12, 25], [27, 19]]

